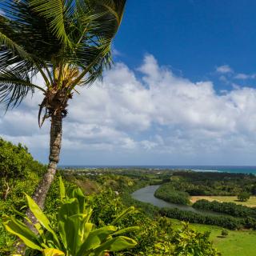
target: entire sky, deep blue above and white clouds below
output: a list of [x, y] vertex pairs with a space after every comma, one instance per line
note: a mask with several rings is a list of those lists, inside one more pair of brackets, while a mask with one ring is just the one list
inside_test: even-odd
[[[113, 69], [70, 102], [61, 164], [256, 164], [256, 3], [170, 2], [128, 0]], [[0, 137], [46, 162], [41, 100], [2, 111]]]

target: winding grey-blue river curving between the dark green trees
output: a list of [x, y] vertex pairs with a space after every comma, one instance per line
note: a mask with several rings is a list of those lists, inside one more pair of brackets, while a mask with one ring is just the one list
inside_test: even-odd
[[152, 186], [146, 186], [143, 187], [140, 190], [136, 190], [133, 194], [131, 194], [131, 196], [141, 202], [149, 202], [154, 206], [158, 206], [160, 208], [162, 207], [170, 207], [170, 208], [178, 208], [180, 210], [187, 210], [187, 211], [192, 211], [194, 213], [197, 214], [207, 214], [207, 215], [220, 215], [218, 213], [214, 213], [214, 212], [206, 212], [206, 211], [202, 211], [202, 210], [196, 210], [194, 209], [192, 206], [183, 206], [183, 205], [178, 205], [175, 203], [171, 203], [171, 202], [166, 202], [162, 199], [158, 199], [154, 197], [154, 192], [155, 190], [158, 189], [160, 185], [152, 185]]

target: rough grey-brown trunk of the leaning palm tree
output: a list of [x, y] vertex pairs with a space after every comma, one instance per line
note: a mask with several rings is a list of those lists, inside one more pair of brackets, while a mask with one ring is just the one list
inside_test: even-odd
[[[57, 165], [59, 161], [59, 154], [62, 146], [62, 114], [57, 113], [51, 118], [50, 126], [50, 154], [49, 154], [49, 164], [46, 174], [43, 176], [42, 181], [39, 183], [37, 189], [34, 192], [33, 199], [37, 202], [38, 206], [43, 210], [46, 194], [50, 189], [51, 183], [54, 181], [54, 175], [57, 170]], [[34, 215], [27, 211], [27, 216], [32, 222], [36, 222]]]

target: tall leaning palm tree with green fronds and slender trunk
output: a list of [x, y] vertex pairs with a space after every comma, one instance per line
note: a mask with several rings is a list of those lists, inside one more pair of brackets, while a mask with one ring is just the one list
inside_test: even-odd
[[[62, 119], [77, 88], [110, 68], [126, 0], [6, 0], [0, 6], [0, 102], [6, 110], [39, 92], [38, 124], [50, 118], [48, 170], [34, 201], [43, 208], [62, 144]], [[32, 78], [41, 75], [43, 85]], [[30, 216], [31, 217], [31, 216]]]

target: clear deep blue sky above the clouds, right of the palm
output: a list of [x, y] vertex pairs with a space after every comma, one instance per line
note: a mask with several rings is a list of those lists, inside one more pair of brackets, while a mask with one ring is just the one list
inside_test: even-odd
[[225, 64], [253, 73], [255, 10], [250, 0], [128, 0], [115, 46], [130, 67], [150, 53], [192, 81]]

